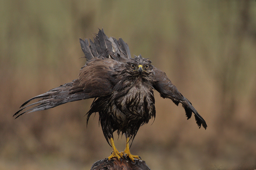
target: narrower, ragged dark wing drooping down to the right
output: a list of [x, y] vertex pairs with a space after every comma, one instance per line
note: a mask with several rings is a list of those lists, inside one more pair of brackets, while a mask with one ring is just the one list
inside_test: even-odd
[[155, 72], [155, 82], [153, 87], [160, 93], [161, 97], [171, 99], [177, 106], [179, 103], [182, 103], [188, 119], [191, 117], [193, 112], [199, 128], [203, 125], [204, 129], [206, 129], [207, 125], [203, 117], [197, 113], [190, 101], [188, 101], [188, 99], [178, 91], [177, 87], [172, 84], [166, 74], [157, 68], [153, 68], [153, 71]]

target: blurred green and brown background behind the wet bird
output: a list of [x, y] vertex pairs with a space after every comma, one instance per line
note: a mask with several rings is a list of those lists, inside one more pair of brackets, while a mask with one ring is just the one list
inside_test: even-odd
[[[150, 58], [208, 128], [155, 91], [131, 153], [151, 169], [256, 168], [255, 1], [0, 1], [0, 169], [90, 169], [111, 154], [92, 100], [14, 120], [26, 100], [77, 78], [98, 28]], [[125, 138], [115, 135], [119, 151]]]

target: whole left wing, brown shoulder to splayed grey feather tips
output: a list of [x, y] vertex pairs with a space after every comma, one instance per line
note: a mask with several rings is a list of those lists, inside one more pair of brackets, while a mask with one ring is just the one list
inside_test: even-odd
[[[26, 112], [46, 110], [71, 101], [109, 95], [112, 92], [114, 81], [111, 73], [113, 72], [113, 67], [119, 64], [120, 62], [106, 58], [90, 60], [80, 70], [76, 80], [29, 99], [21, 105], [22, 108], [13, 116], [17, 115], [19, 117]], [[40, 100], [35, 101], [36, 99]], [[27, 105], [32, 100], [34, 103]], [[28, 107], [34, 105], [36, 106], [28, 109]]]

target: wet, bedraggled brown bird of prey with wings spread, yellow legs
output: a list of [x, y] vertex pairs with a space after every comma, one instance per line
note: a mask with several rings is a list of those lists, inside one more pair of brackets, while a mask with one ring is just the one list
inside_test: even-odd
[[[129, 141], [134, 139], [140, 126], [155, 118], [154, 89], [161, 97], [171, 99], [177, 106], [181, 103], [188, 119], [193, 112], [199, 128], [202, 125], [206, 129], [204, 119], [188, 99], [148, 58], [142, 58], [141, 55], [132, 58], [122, 38], [108, 38], [103, 29], [99, 29], [95, 35], [94, 42], [90, 40], [90, 44], [87, 39], [80, 39], [87, 62], [80, 69], [77, 79], [29, 99], [13, 116], [19, 117], [24, 113], [46, 110], [67, 102], [94, 98], [86, 114], [87, 123], [92, 113], [99, 113], [103, 134], [113, 149], [108, 159], [116, 157], [122, 161], [121, 158], [129, 158], [133, 162], [139, 156], [130, 153]], [[37, 102], [27, 105], [32, 100]], [[34, 107], [27, 109], [29, 106]], [[126, 137], [123, 152], [118, 152], [115, 147], [115, 131]]]

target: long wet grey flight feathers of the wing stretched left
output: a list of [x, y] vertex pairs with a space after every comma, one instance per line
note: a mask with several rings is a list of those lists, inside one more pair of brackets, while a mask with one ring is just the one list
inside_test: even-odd
[[[74, 80], [73, 80], [74, 81]], [[70, 83], [66, 83], [64, 85], [61, 85], [60, 87], [56, 87], [52, 90], [49, 90], [48, 92], [45, 92], [44, 94], [40, 94], [36, 97], [33, 97], [31, 99], [29, 99], [28, 101], [26, 101], [25, 103], [23, 103], [21, 105], [21, 108], [18, 112], [16, 112], [14, 116], [15, 119], [17, 117], [19, 117], [20, 115], [23, 115], [24, 113], [31, 113], [31, 112], [36, 112], [36, 111], [40, 111], [40, 110], [46, 110], [52, 107], [56, 107], [59, 105], [62, 105], [64, 103], [67, 102], [71, 102], [71, 101], [77, 101], [77, 100], [82, 100], [86, 98], [86, 94], [84, 94], [83, 92], [78, 92], [78, 93], [69, 93], [69, 89], [72, 87], [73, 82]], [[25, 106], [26, 104], [28, 104], [28, 102], [32, 101], [32, 100], [36, 100], [36, 99], [41, 99], [35, 103], [32, 103], [30, 105]], [[23, 109], [39, 104], [35, 107], [32, 107], [26, 111], [24, 111]], [[25, 106], [25, 107], [24, 107]], [[23, 111], [23, 112], [21, 112]]]

